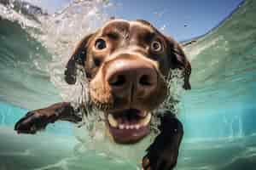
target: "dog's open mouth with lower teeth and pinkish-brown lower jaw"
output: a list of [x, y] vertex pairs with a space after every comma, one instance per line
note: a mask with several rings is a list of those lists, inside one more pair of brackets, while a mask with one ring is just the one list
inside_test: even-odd
[[137, 109], [108, 113], [109, 132], [116, 143], [132, 144], [149, 133], [151, 114]]

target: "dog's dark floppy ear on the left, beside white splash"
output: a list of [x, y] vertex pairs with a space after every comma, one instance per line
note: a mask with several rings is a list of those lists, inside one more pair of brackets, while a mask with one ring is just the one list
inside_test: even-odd
[[77, 81], [77, 65], [83, 65], [87, 54], [87, 45], [90, 41], [90, 37], [94, 34], [89, 34], [84, 37], [77, 48], [74, 50], [71, 58], [68, 60], [65, 70], [65, 81], [68, 84], [74, 84]]

